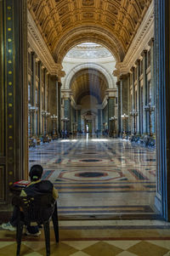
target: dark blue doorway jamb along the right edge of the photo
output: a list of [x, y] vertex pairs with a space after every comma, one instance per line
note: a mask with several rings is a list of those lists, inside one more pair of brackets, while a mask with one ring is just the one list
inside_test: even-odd
[[170, 220], [170, 2], [155, 0], [156, 208]]

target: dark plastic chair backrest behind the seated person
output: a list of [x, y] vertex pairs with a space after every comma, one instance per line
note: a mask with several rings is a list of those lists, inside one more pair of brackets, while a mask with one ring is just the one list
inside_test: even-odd
[[51, 194], [14, 196], [13, 204], [23, 211], [26, 224], [42, 224], [50, 219], [54, 212], [54, 198]]

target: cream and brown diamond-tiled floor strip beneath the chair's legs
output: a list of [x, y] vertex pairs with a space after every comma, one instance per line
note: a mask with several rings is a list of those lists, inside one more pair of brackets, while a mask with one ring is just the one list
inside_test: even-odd
[[[35, 249], [32, 248], [34, 245]], [[0, 242], [0, 255], [14, 255], [16, 244]], [[38, 242], [23, 242], [20, 255], [42, 256], [46, 255], [45, 248]], [[170, 243], [145, 242], [145, 241], [84, 241], [84, 242], [60, 242], [59, 245], [51, 244], [51, 256], [167, 256], [170, 255]]]

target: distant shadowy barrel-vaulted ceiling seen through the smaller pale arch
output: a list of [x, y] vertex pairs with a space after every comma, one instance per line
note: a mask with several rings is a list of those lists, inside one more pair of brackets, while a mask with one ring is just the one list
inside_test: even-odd
[[71, 92], [77, 104], [86, 95], [93, 95], [101, 104], [105, 99], [105, 90], [108, 88], [105, 76], [94, 69], [82, 69], [71, 79]]

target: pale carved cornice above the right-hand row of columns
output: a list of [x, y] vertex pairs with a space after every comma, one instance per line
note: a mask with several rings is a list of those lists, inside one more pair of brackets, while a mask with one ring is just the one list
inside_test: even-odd
[[150, 7], [144, 15], [139, 29], [133, 38], [131, 46], [127, 50], [127, 54], [122, 62], [116, 64], [114, 75], [117, 77], [123, 73], [130, 71], [136, 60], [140, 59], [141, 53], [147, 48], [150, 39], [154, 37], [154, 1], [150, 3]]

